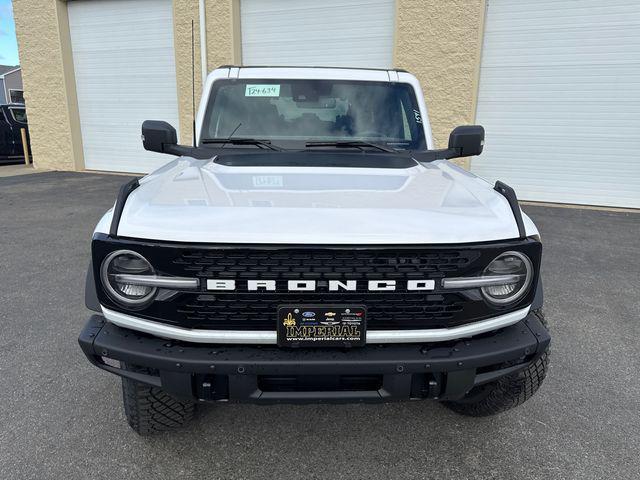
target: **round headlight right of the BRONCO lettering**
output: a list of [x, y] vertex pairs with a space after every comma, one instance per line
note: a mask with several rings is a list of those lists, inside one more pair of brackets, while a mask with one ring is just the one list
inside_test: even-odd
[[489, 302], [504, 305], [515, 302], [527, 292], [533, 278], [533, 266], [525, 254], [505, 252], [498, 255], [482, 275], [502, 279], [495, 285], [482, 287], [482, 293]]

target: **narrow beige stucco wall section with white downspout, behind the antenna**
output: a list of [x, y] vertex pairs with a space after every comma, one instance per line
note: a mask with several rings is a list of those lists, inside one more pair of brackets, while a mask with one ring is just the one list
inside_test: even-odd
[[[207, 70], [220, 65], [238, 62], [239, 18], [238, 0], [207, 0]], [[198, 0], [173, 0], [176, 75], [178, 83], [178, 107], [180, 113], [180, 141], [192, 141], [191, 101], [191, 21], [194, 21], [195, 37], [195, 87], [196, 109], [202, 92], [200, 60], [200, 19]], [[236, 25], [237, 24], [237, 25]]]

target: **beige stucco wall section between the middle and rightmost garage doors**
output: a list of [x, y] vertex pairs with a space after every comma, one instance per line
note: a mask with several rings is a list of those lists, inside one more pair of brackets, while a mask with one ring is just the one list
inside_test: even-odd
[[438, 148], [475, 119], [484, 9], [484, 0], [396, 0], [395, 67], [420, 80]]

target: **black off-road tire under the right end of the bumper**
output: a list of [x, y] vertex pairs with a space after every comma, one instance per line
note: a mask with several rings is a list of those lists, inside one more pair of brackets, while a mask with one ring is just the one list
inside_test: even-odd
[[[542, 310], [533, 312], [548, 329]], [[456, 413], [486, 417], [502, 413], [526, 402], [540, 388], [549, 367], [549, 350], [524, 370], [506, 375], [495, 382], [473, 388], [464, 398], [445, 405]]]

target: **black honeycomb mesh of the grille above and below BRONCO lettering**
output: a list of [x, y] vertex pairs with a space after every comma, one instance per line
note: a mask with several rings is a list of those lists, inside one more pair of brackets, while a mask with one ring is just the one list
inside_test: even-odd
[[[173, 264], [186, 276], [202, 279], [276, 280], [282, 293], [216, 293], [185, 298], [178, 313], [196, 328], [242, 329], [250, 324], [258, 330], [273, 329], [281, 304], [366, 305], [370, 328], [397, 329], [446, 327], [463, 309], [458, 295], [425, 295], [406, 290], [372, 293], [287, 292], [288, 280], [316, 280], [319, 289], [327, 280], [405, 280], [442, 278], [456, 274], [479, 253], [466, 250], [217, 250], [184, 252]], [[402, 294], [404, 293], [404, 294]], [[453, 322], [457, 324], [457, 322]]]

